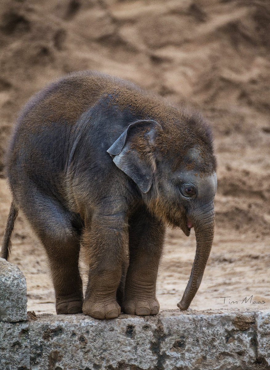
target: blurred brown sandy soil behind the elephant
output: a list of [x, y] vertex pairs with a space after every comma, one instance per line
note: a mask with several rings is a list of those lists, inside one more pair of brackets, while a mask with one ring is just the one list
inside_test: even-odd
[[[2, 0], [0, 49], [0, 235], [10, 206], [3, 156], [19, 110], [60, 75], [100, 70], [202, 111], [213, 127], [215, 239], [191, 308], [270, 307], [269, 1]], [[176, 308], [194, 253], [194, 233], [168, 230], [161, 309]], [[28, 309], [55, 312], [44, 250], [21, 213], [10, 260], [27, 278]]]

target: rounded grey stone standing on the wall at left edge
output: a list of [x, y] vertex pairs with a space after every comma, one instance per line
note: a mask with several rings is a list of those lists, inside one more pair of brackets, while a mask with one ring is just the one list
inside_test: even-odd
[[27, 319], [26, 280], [20, 269], [0, 258], [0, 321]]

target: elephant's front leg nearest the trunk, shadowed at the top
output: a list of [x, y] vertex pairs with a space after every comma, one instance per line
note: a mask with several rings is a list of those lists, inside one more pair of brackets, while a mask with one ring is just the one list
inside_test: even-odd
[[123, 302], [125, 313], [146, 316], [159, 311], [155, 289], [164, 233], [163, 223], [144, 208], [130, 220], [130, 263]]

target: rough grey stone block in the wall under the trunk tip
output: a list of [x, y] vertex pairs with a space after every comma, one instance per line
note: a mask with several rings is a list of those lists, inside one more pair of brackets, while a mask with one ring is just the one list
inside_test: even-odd
[[160, 323], [164, 369], [251, 369], [256, 362], [254, 312], [181, 316], [164, 312]]

